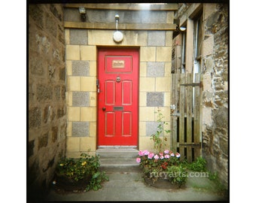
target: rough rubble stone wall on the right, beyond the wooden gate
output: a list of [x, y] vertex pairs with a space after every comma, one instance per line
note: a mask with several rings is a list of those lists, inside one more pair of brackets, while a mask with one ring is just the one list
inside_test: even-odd
[[[186, 20], [203, 11], [203, 157], [223, 183], [228, 177], [228, 5], [179, 4], [175, 17]], [[187, 62], [186, 62], [187, 63]]]

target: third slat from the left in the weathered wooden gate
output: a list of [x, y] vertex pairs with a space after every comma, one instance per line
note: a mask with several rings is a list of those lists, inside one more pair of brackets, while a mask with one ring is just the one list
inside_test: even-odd
[[[187, 83], [193, 83], [193, 74], [187, 74]], [[187, 143], [192, 143], [193, 87], [187, 86]], [[192, 147], [187, 147], [187, 162], [192, 162]]]

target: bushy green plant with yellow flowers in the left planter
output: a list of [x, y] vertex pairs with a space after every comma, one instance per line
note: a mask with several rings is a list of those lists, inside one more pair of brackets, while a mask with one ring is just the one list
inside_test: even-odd
[[87, 184], [86, 189], [100, 189], [101, 183], [108, 180], [104, 171], [99, 171], [99, 156], [90, 156], [81, 153], [79, 159], [62, 158], [56, 167], [56, 183], [62, 179], [69, 181], [72, 185]]

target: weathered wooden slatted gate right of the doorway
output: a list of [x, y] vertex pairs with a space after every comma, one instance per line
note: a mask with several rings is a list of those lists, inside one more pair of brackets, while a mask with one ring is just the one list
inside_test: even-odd
[[[202, 148], [203, 75], [172, 74], [172, 150], [192, 162]], [[175, 106], [174, 106], [175, 105]]]

